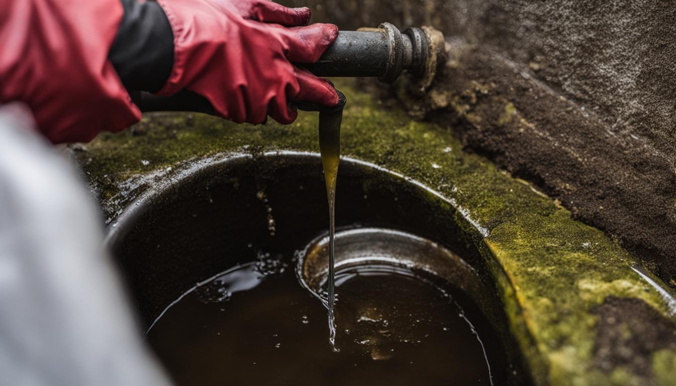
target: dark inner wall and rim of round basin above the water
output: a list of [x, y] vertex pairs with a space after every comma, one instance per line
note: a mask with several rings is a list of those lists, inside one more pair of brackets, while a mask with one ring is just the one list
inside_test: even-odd
[[[145, 329], [198, 283], [256, 261], [260, 250], [301, 250], [328, 228], [318, 154], [233, 155], [195, 165], [149, 187], [109, 227], [107, 245]], [[463, 224], [450, 202], [400, 174], [347, 158], [336, 199], [338, 230], [394, 229], [459, 256], [468, 269], [449, 269], [448, 281], [490, 324], [484, 340], [496, 358], [495, 384], [531, 383], [487, 260], [475, 246], [481, 233]]]

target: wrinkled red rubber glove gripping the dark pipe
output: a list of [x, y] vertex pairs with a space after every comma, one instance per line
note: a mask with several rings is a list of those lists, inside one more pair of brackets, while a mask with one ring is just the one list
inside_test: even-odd
[[216, 114], [260, 124], [270, 114], [289, 124], [289, 102], [333, 106], [333, 86], [291, 62], [312, 63], [333, 43], [338, 28], [312, 24], [310, 9], [268, 0], [158, 0], [174, 32], [174, 68], [159, 95], [193, 91]]

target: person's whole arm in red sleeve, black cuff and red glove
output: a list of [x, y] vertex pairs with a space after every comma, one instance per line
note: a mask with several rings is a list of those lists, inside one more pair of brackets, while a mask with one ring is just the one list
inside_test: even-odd
[[235, 122], [290, 123], [297, 101], [338, 101], [294, 65], [337, 37], [309, 20], [267, 0], [1, 0], [0, 103], [26, 103], [54, 143], [138, 122], [135, 91], [187, 90]]

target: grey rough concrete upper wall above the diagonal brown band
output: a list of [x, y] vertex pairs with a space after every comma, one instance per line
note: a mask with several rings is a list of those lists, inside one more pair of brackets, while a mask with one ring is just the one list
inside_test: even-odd
[[[304, 1], [340, 28], [429, 24], [489, 45], [598, 114], [618, 135], [676, 151], [676, 4], [667, 0]], [[592, 113], [593, 112], [593, 113]]]

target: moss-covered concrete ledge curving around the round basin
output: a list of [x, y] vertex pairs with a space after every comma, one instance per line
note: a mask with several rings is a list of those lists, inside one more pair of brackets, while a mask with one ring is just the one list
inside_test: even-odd
[[[450, 132], [385, 107], [354, 83], [343, 155], [414, 180], [456, 208], [496, 281], [537, 385], [675, 385], [676, 301], [627, 251], [523, 180], [464, 153]], [[318, 151], [316, 114], [251, 126], [155, 114], [70, 149], [107, 222], [147, 187], [232, 153]]]

